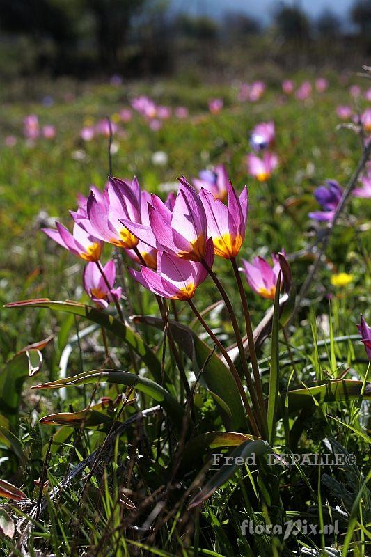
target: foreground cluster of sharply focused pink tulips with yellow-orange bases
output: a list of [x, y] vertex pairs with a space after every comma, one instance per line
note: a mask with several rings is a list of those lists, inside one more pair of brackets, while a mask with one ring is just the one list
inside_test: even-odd
[[[118, 301], [116, 273], [110, 260], [100, 262], [104, 243], [123, 249], [139, 265], [129, 273], [148, 290], [165, 298], [190, 300], [207, 277], [214, 257], [234, 260], [244, 242], [248, 217], [248, 191], [237, 195], [226, 168], [203, 171], [191, 185], [180, 178], [177, 195], [165, 202], [131, 182], [109, 178], [104, 191], [90, 188], [88, 198], [79, 196], [71, 212], [72, 233], [61, 223], [44, 232], [87, 262], [84, 289], [97, 306]], [[226, 198], [226, 204], [223, 199]], [[260, 272], [244, 262], [253, 290], [273, 299], [280, 264], [273, 271], [261, 258], [254, 260]]]

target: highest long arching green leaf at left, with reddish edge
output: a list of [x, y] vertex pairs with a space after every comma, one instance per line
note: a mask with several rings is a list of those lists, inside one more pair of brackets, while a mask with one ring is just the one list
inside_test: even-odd
[[63, 311], [66, 313], [73, 313], [74, 315], [80, 315], [81, 317], [86, 317], [86, 319], [100, 324], [107, 331], [111, 331], [113, 334], [117, 335], [121, 340], [134, 350], [138, 354], [148, 370], [156, 381], [161, 382], [161, 363], [155, 353], [152, 352], [150, 347], [146, 345], [141, 337], [136, 334], [135, 331], [129, 326], [129, 324], [123, 324], [121, 321], [106, 313], [105, 311], [100, 311], [92, 306], [86, 306], [85, 304], [79, 304], [77, 301], [52, 301], [48, 298], [31, 299], [23, 301], [13, 301], [10, 304], [6, 304], [7, 308], [48, 308], [52, 311]]

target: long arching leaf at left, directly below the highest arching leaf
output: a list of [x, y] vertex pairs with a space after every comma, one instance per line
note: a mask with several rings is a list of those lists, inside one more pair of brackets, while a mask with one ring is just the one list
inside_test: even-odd
[[161, 385], [148, 379], [147, 377], [140, 377], [134, 373], [129, 373], [127, 371], [118, 370], [93, 370], [84, 373], [79, 373], [79, 375], [74, 375], [73, 377], [67, 377], [66, 379], [58, 379], [58, 381], [52, 381], [50, 383], [43, 383], [41, 385], [35, 385], [32, 389], [61, 389], [62, 387], [74, 386], [74, 385], [86, 385], [89, 383], [110, 383], [118, 385], [133, 386], [137, 391], [141, 391], [146, 395], [149, 395], [159, 402], [161, 406], [168, 411], [168, 414], [173, 418], [173, 421], [177, 427], [182, 426], [182, 419], [184, 416], [184, 409], [182, 406], [173, 398], [168, 391], [164, 389]]

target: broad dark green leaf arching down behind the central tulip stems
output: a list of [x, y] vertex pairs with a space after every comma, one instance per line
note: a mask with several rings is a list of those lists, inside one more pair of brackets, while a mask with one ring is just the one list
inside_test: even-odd
[[[136, 315], [132, 319], [136, 322], [148, 323], [159, 329], [162, 326], [160, 319], [149, 315]], [[210, 347], [203, 340], [200, 340], [195, 331], [192, 331], [187, 325], [171, 320], [169, 321], [169, 327], [175, 342], [192, 361], [194, 372], [197, 374], [212, 352]], [[229, 412], [226, 412], [223, 405], [219, 406], [223, 412], [223, 422], [226, 427], [233, 430], [244, 428], [246, 424], [244, 407], [235, 379], [233, 379], [226, 364], [216, 354], [212, 354], [209, 363], [205, 366], [200, 377], [200, 383], [212, 393], [216, 402], [218, 402], [216, 397], [219, 397], [229, 408]], [[232, 416], [232, 419], [230, 419], [230, 416]]]

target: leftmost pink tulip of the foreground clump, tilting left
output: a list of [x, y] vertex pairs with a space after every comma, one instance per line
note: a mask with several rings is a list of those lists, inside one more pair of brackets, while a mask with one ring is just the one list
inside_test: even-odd
[[72, 234], [61, 223], [56, 222], [56, 230], [42, 228], [49, 238], [68, 249], [75, 256], [84, 261], [99, 261], [103, 243], [97, 237], [90, 235], [79, 224], [74, 223]]

